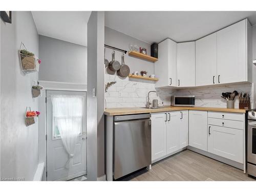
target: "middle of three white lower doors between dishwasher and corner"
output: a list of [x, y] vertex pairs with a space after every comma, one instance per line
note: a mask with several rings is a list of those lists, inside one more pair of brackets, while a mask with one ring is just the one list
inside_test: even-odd
[[166, 154], [179, 150], [180, 112], [167, 113]]

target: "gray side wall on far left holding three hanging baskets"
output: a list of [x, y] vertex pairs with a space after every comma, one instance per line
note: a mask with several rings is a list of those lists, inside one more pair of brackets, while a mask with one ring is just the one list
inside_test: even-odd
[[1, 177], [33, 180], [38, 164], [38, 124], [26, 126], [26, 106], [38, 110], [31, 96], [38, 73], [20, 72], [18, 50], [23, 41], [38, 55], [38, 34], [31, 12], [12, 12], [12, 24], [1, 25]]

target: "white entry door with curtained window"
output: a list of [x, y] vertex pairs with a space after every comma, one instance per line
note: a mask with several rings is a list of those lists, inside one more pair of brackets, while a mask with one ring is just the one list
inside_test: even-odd
[[[57, 97], [62, 99], [59, 114], [56, 110], [54, 111], [56, 103], [53, 103], [57, 102], [53, 99]], [[74, 100], [69, 100], [69, 98], [74, 98]], [[75, 114], [75, 117], [72, 114]], [[75, 121], [69, 121], [71, 118], [75, 118]], [[56, 123], [59, 119], [62, 124]], [[70, 129], [73, 125], [70, 126], [67, 122], [77, 125], [76, 130], [79, 129], [79, 131], [74, 134], [76, 137], [72, 135], [74, 129], [72, 131]], [[65, 140], [63, 129], [60, 128], [65, 125], [69, 125], [67, 126], [69, 132], [66, 132], [68, 133], [66, 136], [72, 135], [73, 142]], [[86, 92], [47, 91], [47, 180], [69, 180], [86, 174], [86, 143]], [[72, 153], [69, 153], [69, 148], [71, 151], [73, 148]]]

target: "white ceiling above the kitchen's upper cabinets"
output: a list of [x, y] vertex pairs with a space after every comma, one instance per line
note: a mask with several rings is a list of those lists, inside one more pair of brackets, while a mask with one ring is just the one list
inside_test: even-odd
[[196, 40], [246, 17], [256, 24], [256, 11], [107, 11], [105, 26], [152, 44]]

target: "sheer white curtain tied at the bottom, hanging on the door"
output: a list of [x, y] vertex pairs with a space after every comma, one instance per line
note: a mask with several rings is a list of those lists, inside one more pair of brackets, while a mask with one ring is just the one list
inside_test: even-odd
[[[53, 129], [58, 128], [59, 135], [69, 155], [66, 168], [71, 166], [75, 144], [82, 131], [82, 96], [52, 96]], [[54, 133], [53, 132], [53, 133]]]

